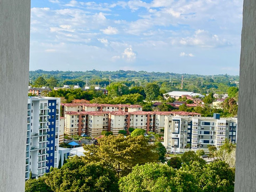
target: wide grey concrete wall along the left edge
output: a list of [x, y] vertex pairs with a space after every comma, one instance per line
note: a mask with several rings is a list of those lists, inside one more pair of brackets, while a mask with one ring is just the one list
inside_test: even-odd
[[30, 0], [0, 1], [0, 191], [24, 191]]

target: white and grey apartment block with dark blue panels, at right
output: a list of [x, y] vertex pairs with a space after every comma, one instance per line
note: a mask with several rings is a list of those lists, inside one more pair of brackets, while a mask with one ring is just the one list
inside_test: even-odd
[[169, 152], [219, 148], [226, 138], [236, 143], [237, 118], [165, 116], [164, 146]]

